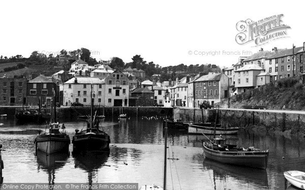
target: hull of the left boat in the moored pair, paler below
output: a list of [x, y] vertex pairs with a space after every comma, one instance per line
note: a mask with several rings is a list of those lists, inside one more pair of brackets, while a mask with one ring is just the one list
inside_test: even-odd
[[57, 153], [58, 151], [68, 151], [70, 138], [69, 135], [39, 135], [35, 139], [37, 149], [47, 154]]

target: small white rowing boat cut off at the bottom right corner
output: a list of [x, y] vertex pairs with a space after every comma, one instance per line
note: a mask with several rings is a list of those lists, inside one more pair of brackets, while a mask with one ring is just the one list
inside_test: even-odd
[[301, 171], [286, 171], [284, 172], [285, 179], [293, 186], [305, 189], [305, 172]]

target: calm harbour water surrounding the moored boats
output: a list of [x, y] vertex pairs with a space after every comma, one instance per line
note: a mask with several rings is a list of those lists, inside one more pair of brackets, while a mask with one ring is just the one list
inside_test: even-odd
[[[163, 185], [164, 131], [162, 120], [131, 118], [104, 119], [103, 129], [110, 135], [110, 154], [87, 156], [35, 155], [34, 139], [46, 125], [18, 125], [14, 119], [0, 118], [3, 144], [4, 183], [96, 183], [128, 182]], [[65, 122], [72, 136], [85, 127], [81, 121]], [[168, 131], [167, 188], [172, 189], [284, 189], [283, 172], [305, 171], [305, 140], [249, 133], [240, 130], [231, 141], [243, 147], [269, 150], [266, 170], [243, 168], [205, 160], [202, 135]], [[57, 161], [57, 162], [55, 162]]]

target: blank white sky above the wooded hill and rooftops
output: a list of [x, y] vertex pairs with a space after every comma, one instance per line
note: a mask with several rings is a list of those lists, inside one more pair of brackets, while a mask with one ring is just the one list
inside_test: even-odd
[[[56, 55], [86, 48], [97, 60], [141, 55], [162, 67], [229, 67], [261, 48], [305, 42], [303, 6], [297, 1], [2, 1], [0, 55]], [[256, 46], [235, 41], [239, 21], [283, 14], [285, 38]], [[203, 53], [204, 52], [204, 53]], [[199, 55], [200, 54], [200, 55]], [[202, 55], [204, 54], [204, 55]], [[214, 54], [214, 55], [212, 55]]]

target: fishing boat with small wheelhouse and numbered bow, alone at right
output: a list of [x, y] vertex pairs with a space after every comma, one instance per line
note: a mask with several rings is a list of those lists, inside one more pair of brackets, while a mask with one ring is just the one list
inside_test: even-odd
[[206, 159], [259, 169], [266, 169], [269, 155], [268, 150], [261, 151], [253, 146], [246, 149], [235, 144], [225, 144], [222, 137], [203, 143], [203, 152]]

